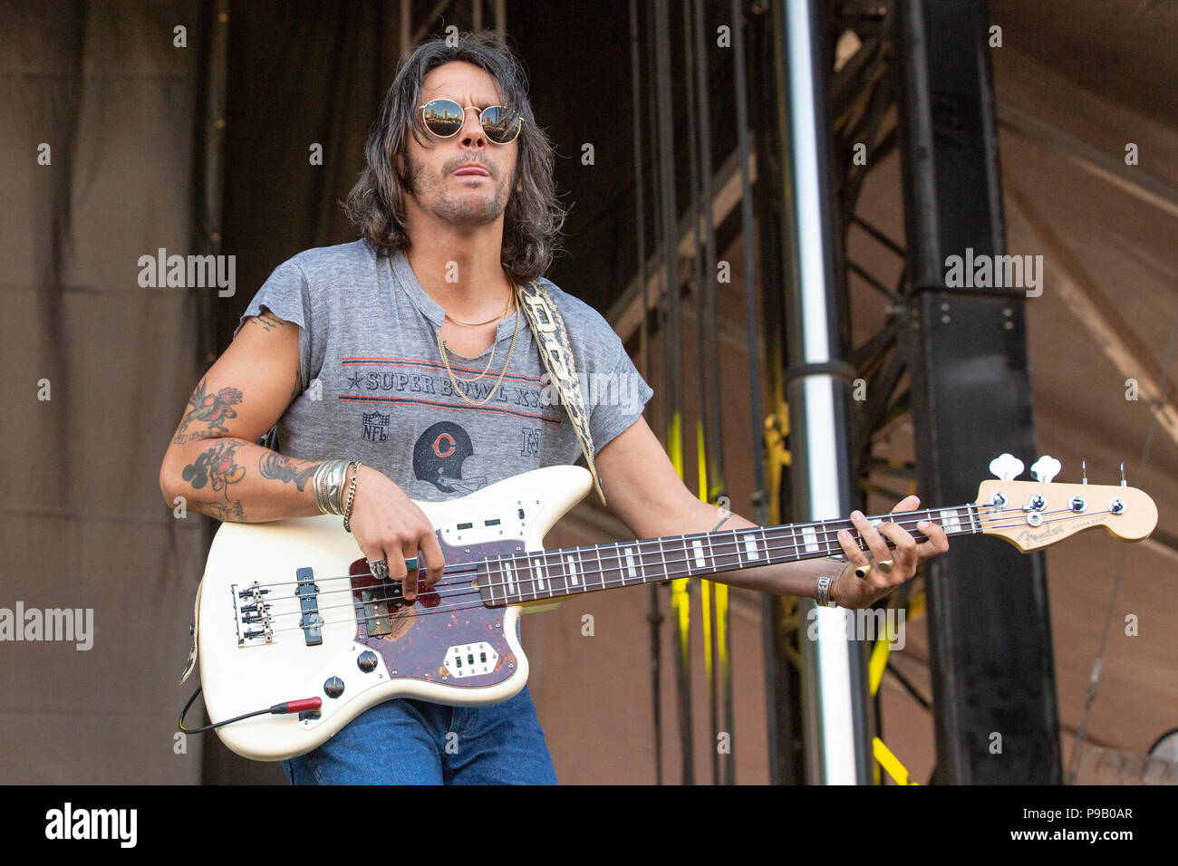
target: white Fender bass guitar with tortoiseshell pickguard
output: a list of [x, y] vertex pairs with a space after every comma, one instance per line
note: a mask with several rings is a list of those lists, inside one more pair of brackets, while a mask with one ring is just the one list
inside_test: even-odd
[[[1023, 551], [1096, 527], [1143, 538], [1157, 523], [1157, 507], [1140, 490], [1037, 475], [1046, 482], [986, 481], [977, 502], [869, 520], [895, 521], [919, 541], [916, 522], [927, 518], [947, 535], [997, 535]], [[391, 698], [503, 701], [528, 680], [516, 635], [527, 602], [830, 556], [842, 553], [843, 528], [858, 538], [849, 520], [835, 518], [544, 550], [544, 535], [590, 487], [585, 469], [561, 465], [462, 498], [418, 502], [445, 571], [410, 603], [399, 582], [370, 574], [337, 516], [221, 524], [196, 623], [218, 735], [245, 758], [274, 761], [310, 752]]]

